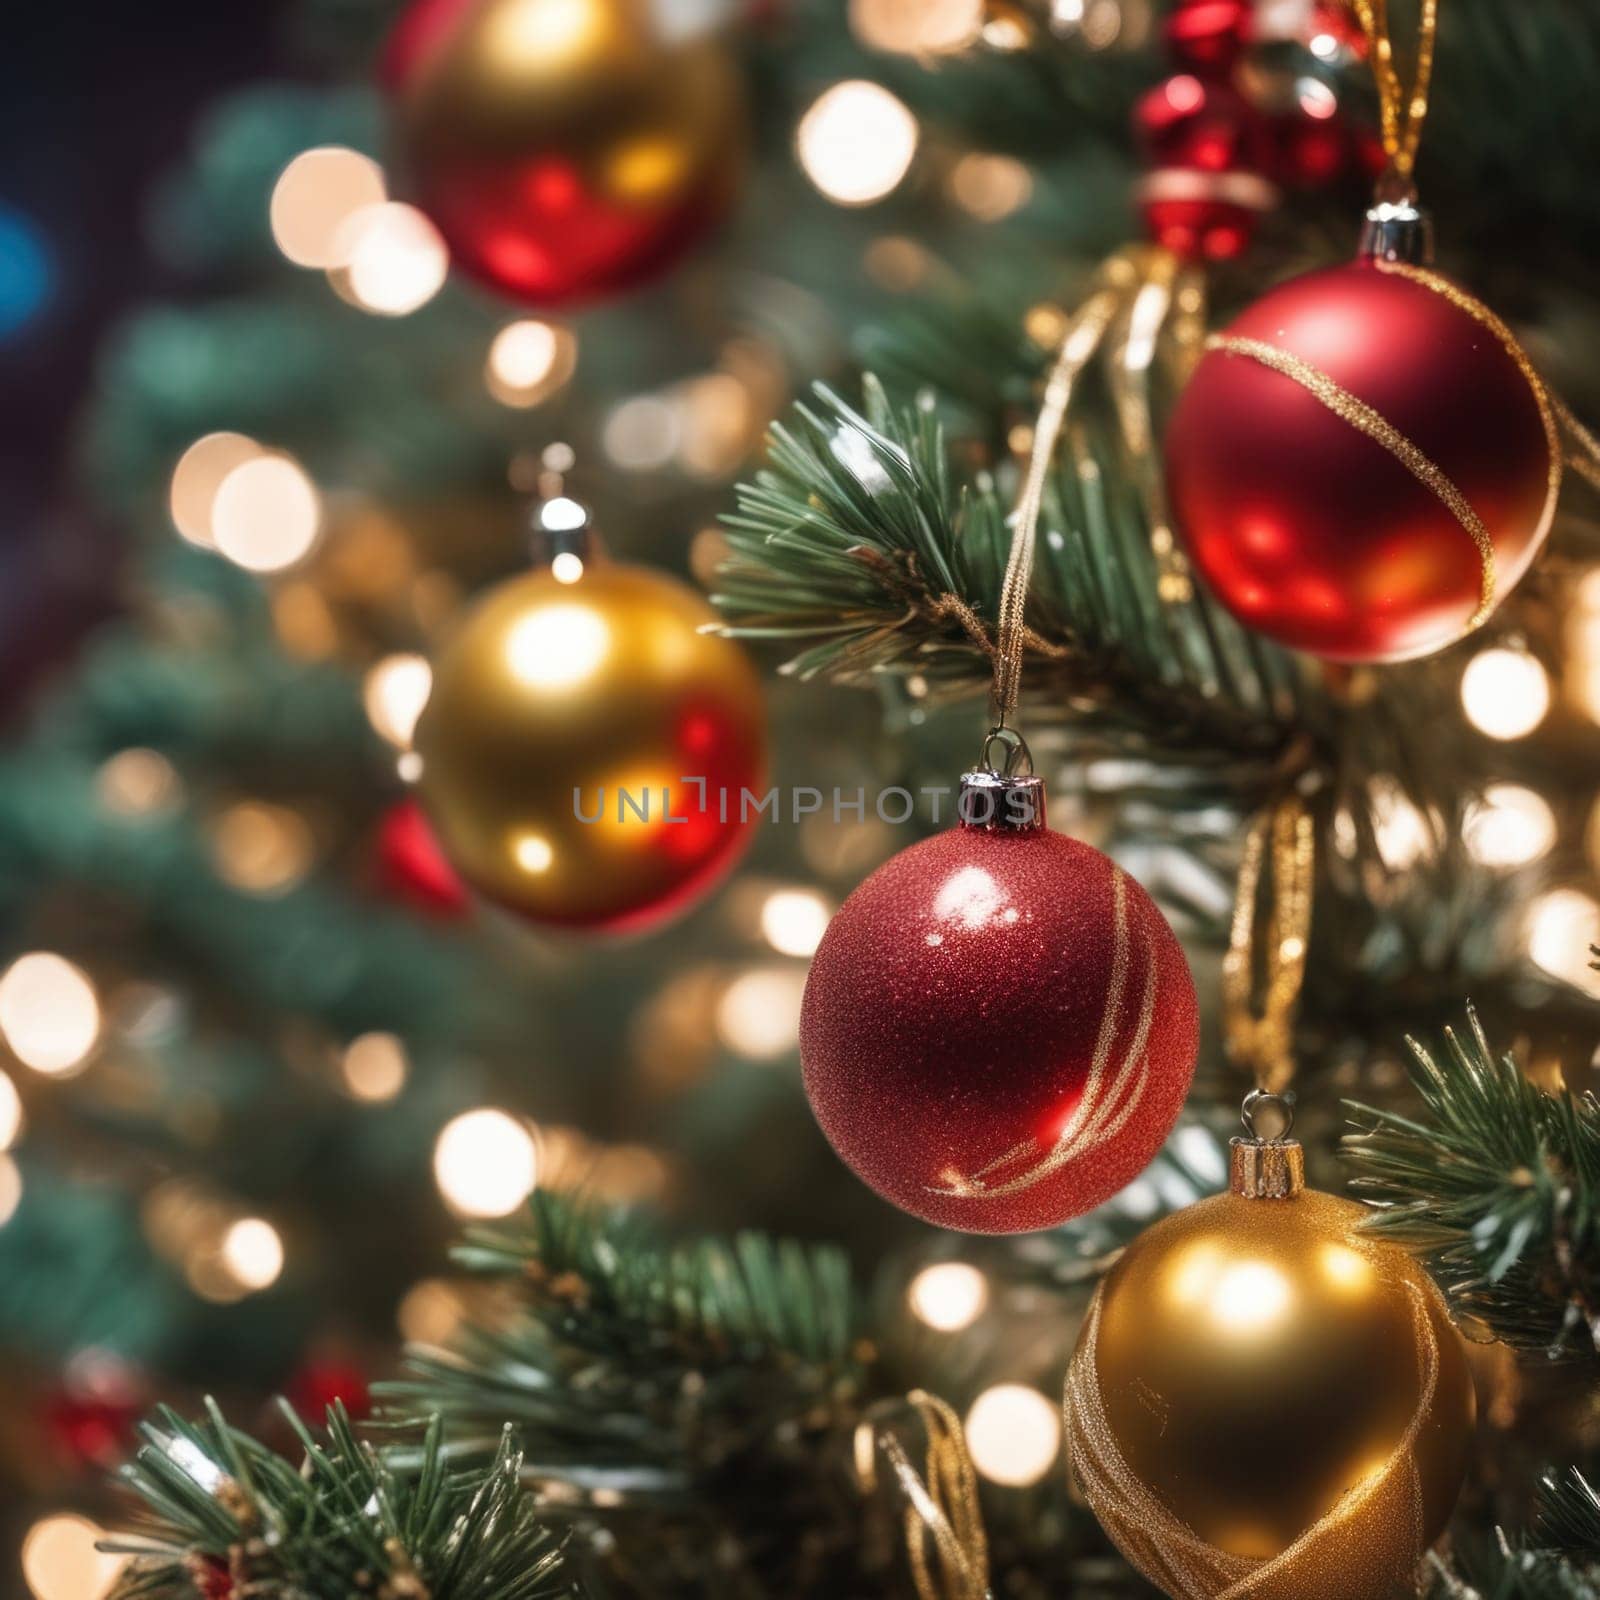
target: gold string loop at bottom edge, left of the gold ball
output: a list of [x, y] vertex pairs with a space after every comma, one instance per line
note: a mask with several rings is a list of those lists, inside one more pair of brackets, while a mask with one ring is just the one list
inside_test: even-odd
[[978, 1502], [978, 1474], [966, 1451], [962, 1419], [938, 1395], [914, 1389], [893, 1410], [909, 1408], [926, 1440], [918, 1472], [885, 1410], [856, 1429], [856, 1474], [864, 1493], [877, 1488], [877, 1458], [894, 1474], [906, 1501], [906, 1555], [918, 1600], [990, 1600], [989, 1536]]

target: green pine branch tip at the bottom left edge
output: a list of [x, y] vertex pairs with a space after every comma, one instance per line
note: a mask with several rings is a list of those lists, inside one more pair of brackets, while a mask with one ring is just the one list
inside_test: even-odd
[[106, 1547], [133, 1555], [112, 1600], [560, 1600], [562, 1541], [522, 1486], [509, 1432], [493, 1461], [453, 1470], [435, 1418], [414, 1469], [397, 1472], [342, 1406], [317, 1438], [282, 1406], [296, 1462], [230, 1427], [163, 1408], [122, 1478], [144, 1518]]

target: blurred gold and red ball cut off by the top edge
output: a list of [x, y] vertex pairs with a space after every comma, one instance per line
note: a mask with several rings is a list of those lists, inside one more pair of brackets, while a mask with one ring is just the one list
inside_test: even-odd
[[738, 190], [739, 75], [682, 0], [413, 0], [384, 80], [453, 258], [534, 306], [658, 275]]

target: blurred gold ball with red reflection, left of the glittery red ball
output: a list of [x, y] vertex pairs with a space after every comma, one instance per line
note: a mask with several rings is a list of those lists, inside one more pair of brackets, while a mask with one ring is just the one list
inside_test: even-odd
[[456, 870], [536, 923], [640, 931], [738, 859], [766, 771], [762, 688], [664, 573], [590, 563], [493, 589], [434, 662], [422, 803]]

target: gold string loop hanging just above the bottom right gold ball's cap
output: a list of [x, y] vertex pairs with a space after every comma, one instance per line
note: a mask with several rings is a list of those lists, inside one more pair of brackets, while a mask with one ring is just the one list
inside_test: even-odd
[[[1267, 1094], [1282, 1093], [1294, 1075], [1294, 1013], [1306, 982], [1315, 853], [1310, 813], [1291, 792], [1251, 826], [1238, 869], [1234, 925], [1222, 958], [1222, 1042]], [[1258, 984], [1262, 880], [1266, 941]]]

